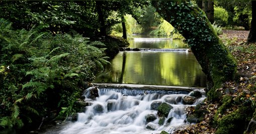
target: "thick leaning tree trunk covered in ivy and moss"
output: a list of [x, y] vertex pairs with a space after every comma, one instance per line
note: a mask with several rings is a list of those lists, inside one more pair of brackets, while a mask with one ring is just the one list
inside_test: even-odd
[[237, 63], [219, 40], [206, 15], [190, 1], [152, 1], [152, 4], [186, 38], [207, 75], [208, 97], [216, 99], [215, 89], [234, 78]]

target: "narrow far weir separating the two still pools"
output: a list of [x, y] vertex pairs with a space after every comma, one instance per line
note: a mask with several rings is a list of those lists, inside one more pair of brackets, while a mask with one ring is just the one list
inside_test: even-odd
[[190, 49], [172, 48], [120, 48], [120, 51], [157, 51], [157, 52], [191, 52]]

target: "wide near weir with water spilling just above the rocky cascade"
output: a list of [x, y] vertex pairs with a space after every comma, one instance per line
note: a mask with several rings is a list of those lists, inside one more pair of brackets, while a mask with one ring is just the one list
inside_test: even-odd
[[183, 86], [160, 86], [160, 85], [137, 85], [137, 84], [109, 84], [93, 83], [97, 86], [101, 94], [109, 91], [120, 92], [128, 95], [142, 95], [148, 93], [158, 94], [188, 94], [193, 90], [203, 90], [202, 87], [183, 87]]

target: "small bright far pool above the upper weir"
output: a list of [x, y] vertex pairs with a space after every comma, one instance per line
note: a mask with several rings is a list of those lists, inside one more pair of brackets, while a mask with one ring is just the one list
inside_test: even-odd
[[181, 40], [173, 40], [170, 38], [133, 38], [129, 40], [129, 43], [129, 48], [188, 48]]

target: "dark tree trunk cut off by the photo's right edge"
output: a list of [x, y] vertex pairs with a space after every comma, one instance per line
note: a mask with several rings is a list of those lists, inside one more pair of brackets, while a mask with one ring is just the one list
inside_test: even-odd
[[256, 1], [251, 1], [251, 15], [250, 33], [247, 38], [249, 43], [256, 42]]

